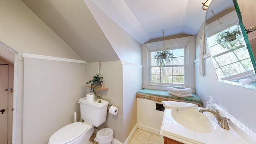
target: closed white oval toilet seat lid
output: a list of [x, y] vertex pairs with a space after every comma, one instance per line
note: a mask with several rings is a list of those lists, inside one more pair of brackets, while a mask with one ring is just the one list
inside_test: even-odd
[[49, 144], [66, 144], [81, 136], [88, 126], [82, 122], [68, 124], [55, 132], [49, 139]]

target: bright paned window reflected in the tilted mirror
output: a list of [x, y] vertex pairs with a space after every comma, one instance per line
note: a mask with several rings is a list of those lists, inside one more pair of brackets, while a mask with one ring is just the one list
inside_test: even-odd
[[[236, 28], [240, 29], [238, 25], [230, 26], [229, 29]], [[246, 44], [244, 41], [241, 41], [243, 38], [239, 38], [239, 42], [232, 41], [236, 46], [233, 46], [234, 49], [229, 49], [223, 46], [222, 43], [225, 42], [216, 42], [217, 36], [218, 33], [209, 37], [207, 40], [218, 78], [231, 78], [237, 74], [253, 70]], [[239, 36], [242, 36], [242, 32]]]

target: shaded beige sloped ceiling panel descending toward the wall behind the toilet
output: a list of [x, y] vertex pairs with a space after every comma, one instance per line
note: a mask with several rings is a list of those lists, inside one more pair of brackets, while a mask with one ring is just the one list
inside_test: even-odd
[[119, 60], [83, 0], [22, 0], [86, 62]]

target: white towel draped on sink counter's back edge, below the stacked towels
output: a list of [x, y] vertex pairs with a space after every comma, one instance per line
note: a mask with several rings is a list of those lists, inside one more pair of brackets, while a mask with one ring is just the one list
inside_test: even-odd
[[165, 108], [197, 108], [198, 105], [187, 102], [162, 101]]

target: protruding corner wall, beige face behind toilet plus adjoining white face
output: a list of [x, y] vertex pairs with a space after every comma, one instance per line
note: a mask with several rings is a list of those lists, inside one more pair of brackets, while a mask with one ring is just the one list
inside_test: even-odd
[[[87, 80], [97, 73], [98, 62], [88, 63]], [[101, 62], [100, 75], [109, 89], [96, 92], [109, 102], [108, 106], [118, 107], [118, 114], [108, 113], [106, 122], [96, 129], [112, 128], [114, 138], [123, 143], [137, 123], [136, 93], [142, 88], [142, 67], [122, 61]]]

